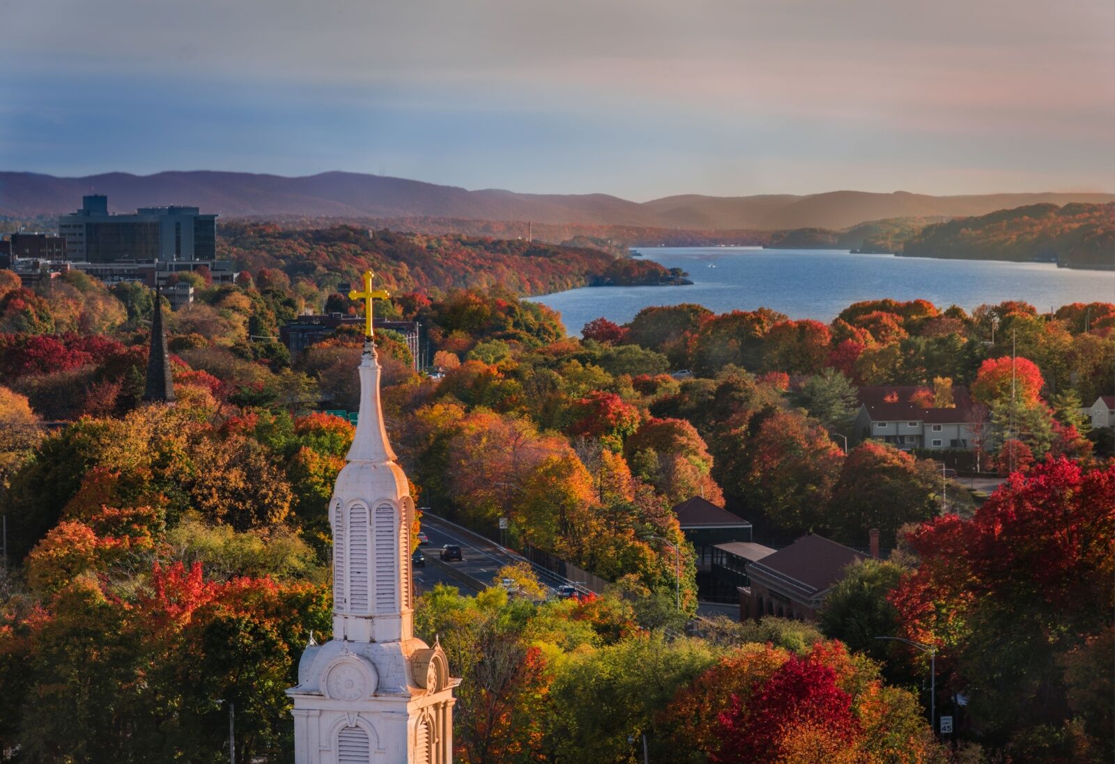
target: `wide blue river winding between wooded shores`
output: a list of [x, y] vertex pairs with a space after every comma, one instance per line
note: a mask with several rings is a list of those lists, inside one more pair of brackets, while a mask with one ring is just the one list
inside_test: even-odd
[[716, 313], [770, 307], [792, 319], [830, 322], [854, 302], [928, 300], [970, 311], [1024, 300], [1039, 311], [1073, 302], [1115, 301], [1115, 272], [1047, 263], [860, 255], [842, 249], [651, 247], [647, 259], [689, 272], [691, 286], [586, 286], [533, 297], [561, 312], [579, 334], [603, 316], [626, 323], [648, 305], [698, 303]]

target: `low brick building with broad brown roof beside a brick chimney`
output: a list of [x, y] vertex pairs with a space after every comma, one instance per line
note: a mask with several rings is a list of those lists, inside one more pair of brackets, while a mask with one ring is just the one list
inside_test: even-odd
[[825, 595], [844, 568], [867, 556], [811, 533], [747, 566], [750, 586], [739, 588], [739, 618], [778, 616], [816, 620]]

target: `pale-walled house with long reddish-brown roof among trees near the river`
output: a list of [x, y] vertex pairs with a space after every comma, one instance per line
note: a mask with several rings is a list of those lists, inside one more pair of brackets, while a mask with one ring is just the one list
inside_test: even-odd
[[952, 388], [951, 408], [922, 408], [917, 385], [885, 384], [860, 388], [860, 411], [852, 423], [853, 440], [881, 440], [911, 449], [973, 449], [973, 425], [987, 419], [985, 407], [972, 401], [967, 388]]

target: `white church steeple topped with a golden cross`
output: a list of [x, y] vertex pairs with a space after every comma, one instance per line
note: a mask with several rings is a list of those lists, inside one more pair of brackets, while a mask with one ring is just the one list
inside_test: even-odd
[[302, 654], [294, 702], [295, 764], [452, 764], [453, 688], [445, 653], [414, 636], [414, 500], [387, 439], [363, 275], [360, 413], [329, 502], [333, 638]]

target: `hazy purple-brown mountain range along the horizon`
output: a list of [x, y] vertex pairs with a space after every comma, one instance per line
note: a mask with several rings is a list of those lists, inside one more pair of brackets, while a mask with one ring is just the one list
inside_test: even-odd
[[36, 173], [0, 173], [0, 215], [33, 217], [71, 212], [81, 196], [107, 194], [114, 212], [183, 204], [229, 217], [444, 217], [474, 221], [533, 221], [543, 224], [643, 226], [697, 231], [822, 227], [847, 228], [893, 217], [986, 215], [1032, 204], [1103, 204], [1113, 194], [986, 194], [927, 196], [895, 192], [838, 190], [794, 196], [668, 196], [629, 202], [607, 194], [520, 194], [357, 173], [279, 175], [168, 172], [107, 173], [58, 178]]

